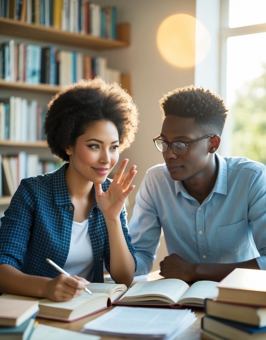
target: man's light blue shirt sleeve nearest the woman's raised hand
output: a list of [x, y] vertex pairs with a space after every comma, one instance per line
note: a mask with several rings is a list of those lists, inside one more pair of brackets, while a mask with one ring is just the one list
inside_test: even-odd
[[128, 224], [138, 263], [136, 275], [150, 272], [160, 245], [161, 223], [151, 181], [149, 174], [146, 173], [137, 192], [136, 203]]

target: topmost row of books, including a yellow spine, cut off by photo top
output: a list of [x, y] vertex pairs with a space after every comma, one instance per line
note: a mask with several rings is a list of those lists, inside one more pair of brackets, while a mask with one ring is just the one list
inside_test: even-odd
[[116, 6], [89, 0], [1, 0], [0, 17], [116, 39]]

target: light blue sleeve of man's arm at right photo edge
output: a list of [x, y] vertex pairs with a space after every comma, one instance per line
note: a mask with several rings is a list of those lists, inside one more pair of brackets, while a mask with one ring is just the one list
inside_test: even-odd
[[261, 255], [256, 260], [260, 269], [266, 270], [266, 167], [251, 178], [248, 194], [248, 220], [256, 248]]

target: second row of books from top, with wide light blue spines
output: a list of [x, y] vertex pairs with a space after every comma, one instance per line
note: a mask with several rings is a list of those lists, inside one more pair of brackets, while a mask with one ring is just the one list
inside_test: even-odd
[[5, 81], [63, 86], [95, 76], [106, 83], [121, 83], [121, 72], [108, 67], [103, 56], [15, 43], [13, 39], [0, 44], [0, 78]]

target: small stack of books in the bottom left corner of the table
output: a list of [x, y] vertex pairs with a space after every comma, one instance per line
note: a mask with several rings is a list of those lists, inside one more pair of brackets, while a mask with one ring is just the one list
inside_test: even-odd
[[0, 339], [30, 339], [37, 322], [38, 301], [0, 300]]

